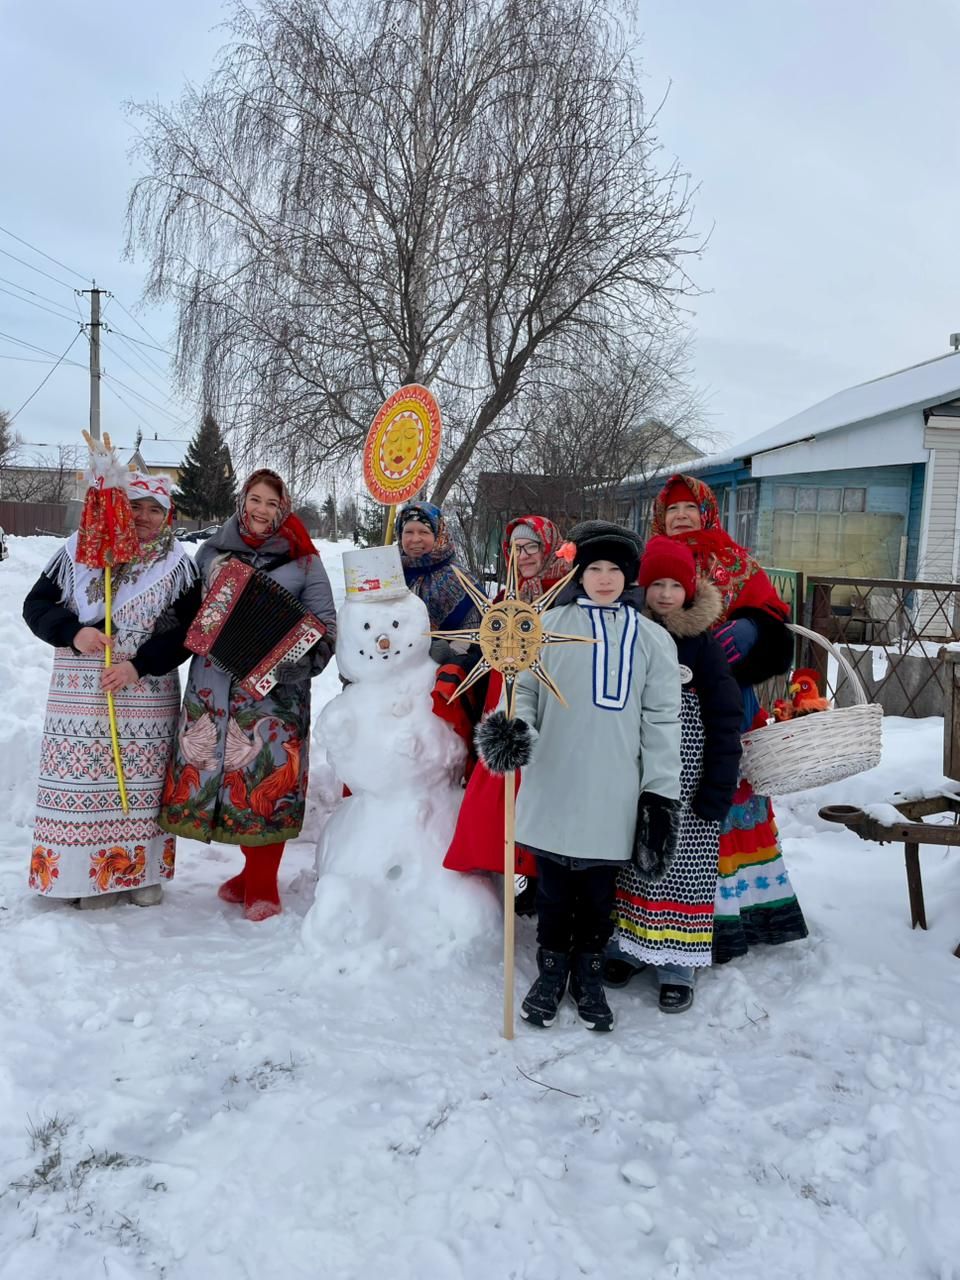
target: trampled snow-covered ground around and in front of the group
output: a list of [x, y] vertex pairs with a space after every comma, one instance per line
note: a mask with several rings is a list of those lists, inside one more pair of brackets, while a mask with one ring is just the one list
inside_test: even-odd
[[[708, 972], [689, 1015], [639, 978], [612, 1036], [571, 1006], [508, 1043], [498, 934], [305, 947], [323, 769], [276, 919], [187, 842], [159, 909], [28, 893], [50, 652], [20, 602], [54, 547], [0, 563], [3, 1280], [960, 1280], [960, 852], [923, 850], [911, 932], [900, 847], [817, 817], [934, 788], [940, 721], [778, 805], [806, 942]], [[532, 922], [517, 946], [520, 995]]]

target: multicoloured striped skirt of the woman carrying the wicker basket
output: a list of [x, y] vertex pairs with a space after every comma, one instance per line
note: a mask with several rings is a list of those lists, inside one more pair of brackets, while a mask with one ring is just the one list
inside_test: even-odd
[[713, 959], [724, 964], [758, 942], [806, 937], [806, 922], [790, 883], [768, 796], [741, 780], [721, 828]]

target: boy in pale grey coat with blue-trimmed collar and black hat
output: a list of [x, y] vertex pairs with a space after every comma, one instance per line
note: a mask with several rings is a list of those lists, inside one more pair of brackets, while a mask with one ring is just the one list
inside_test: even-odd
[[570, 978], [584, 1024], [611, 1030], [602, 973], [617, 870], [631, 859], [637, 819], [644, 852], [668, 859], [676, 842], [680, 668], [676, 645], [640, 614], [630, 590], [637, 535], [586, 521], [571, 540], [579, 591], [544, 621], [595, 643], [545, 650], [568, 705], [525, 672], [516, 719], [490, 716], [477, 730], [477, 750], [494, 773], [524, 769], [517, 841], [536, 856], [540, 946], [539, 977], [521, 1015], [550, 1027]]

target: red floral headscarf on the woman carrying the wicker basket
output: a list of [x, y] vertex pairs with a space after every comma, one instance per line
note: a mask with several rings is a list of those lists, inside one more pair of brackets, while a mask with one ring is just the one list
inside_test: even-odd
[[650, 531], [667, 535], [667, 507], [676, 502], [695, 502], [700, 509], [700, 529], [673, 534], [694, 553], [698, 572], [709, 577], [723, 596], [724, 622], [737, 609], [760, 609], [777, 622], [790, 621], [790, 608], [777, 595], [773, 582], [754, 557], [723, 529], [713, 489], [696, 476], [671, 476], [653, 508]]

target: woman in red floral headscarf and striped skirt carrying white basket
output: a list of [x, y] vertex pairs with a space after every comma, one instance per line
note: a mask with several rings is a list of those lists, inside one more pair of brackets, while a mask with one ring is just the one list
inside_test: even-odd
[[[698, 572], [719, 588], [723, 612], [714, 635], [740, 685], [746, 731], [760, 710], [753, 686], [790, 668], [790, 609], [754, 557], [723, 529], [713, 490], [696, 476], [671, 476], [657, 498], [652, 532], [686, 543]], [[783, 864], [773, 806], [741, 778], [721, 827], [714, 964], [745, 955], [758, 942], [805, 937], [806, 922]]]

